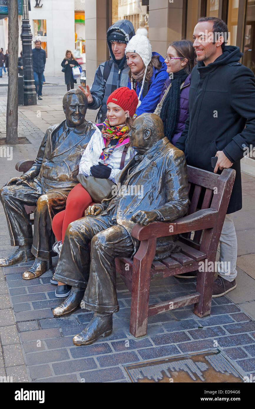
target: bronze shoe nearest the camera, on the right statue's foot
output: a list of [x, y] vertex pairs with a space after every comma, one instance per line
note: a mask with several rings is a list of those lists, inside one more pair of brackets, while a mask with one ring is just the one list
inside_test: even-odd
[[97, 340], [99, 337], [107, 337], [113, 331], [113, 314], [97, 314], [95, 313], [93, 319], [73, 338], [74, 345], [89, 345]]

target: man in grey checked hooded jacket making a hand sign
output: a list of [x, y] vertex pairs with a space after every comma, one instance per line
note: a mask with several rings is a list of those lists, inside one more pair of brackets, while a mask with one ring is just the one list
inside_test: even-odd
[[79, 85], [88, 98], [88, 109], [99, 109], [97, 123], [106, 119], [106, 102], [109, 95], [128, 83], [129, 67], [126, 63], [125, 49], [135, 35], [133, 24], [129, 20], [118, 20], [108, 28], [106, 39], [111, 54], [108, 61], [100, 64], [95, 72], [94, 82], [86, 90]]

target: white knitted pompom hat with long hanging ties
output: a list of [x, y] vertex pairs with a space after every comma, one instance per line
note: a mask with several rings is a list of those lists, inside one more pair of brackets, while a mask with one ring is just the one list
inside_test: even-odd
[[[126, 49], [125, 49], [125, 54], [128, 52], [135, 52], [136, 54], [138, 54], [142, 58], [142, 61], [145, 65], [144, 76], [142, 80], [142, 87], [138, 95], [138, 101], [139, 101], [138, 106], [141, 103], [140, 96], [142, 94], [142, 90], [144, 87], [144, 81], [145, 81], [145, 76], [147, 73], [147, 68], [152, 58], [151, 44], [148, 40], [147, 35], [148, 35], [147, 29], [138, 28], [136, 30], [135, 36], [133, 36], [131, 40], [129, 40], [129, 42], [126, 45]], [[131, 89], [133, 90], [133, 78], [131, 78]]]

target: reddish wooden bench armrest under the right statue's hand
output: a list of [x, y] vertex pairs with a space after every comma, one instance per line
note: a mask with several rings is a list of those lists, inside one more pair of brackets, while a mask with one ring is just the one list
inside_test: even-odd
[[203, 230], [214, 227], [218, 217], [215, 209], [203, 209], [184, 216], [174, 222], [151, 222], [147, 226], [136, 223], [131, 231], [131, 235], [138, 240], [148, 240], [172, 236], [173, 234], [187, 233], [189, 231]]

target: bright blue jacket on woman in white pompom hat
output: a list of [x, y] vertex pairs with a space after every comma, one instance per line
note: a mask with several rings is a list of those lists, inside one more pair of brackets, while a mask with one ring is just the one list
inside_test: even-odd
[[[169, 74], [167, 74], [167, 65], [164, 63], [164, 58], [157, 52], [153, 52], [152, 56], [155, 56], [155, 55], [159, 56], [159, 61], [160, 63], [162, 63], [162, 67], [160, 68], [160, 70], [156, 70], [156, 68], [153, 67], [153, 74], [149, 81], [149, 91], [147, 92], [144, 98], [141, 94], [140, 96], [141, 104], [140, 106], [138, 106], [138, 108], [135, 111], [136, 115], [141, 115], [144, 112], [154, 112], [155, 111], [156, 106], [158, 105], [158, 100], [159, 100], [163, 85], [169, 76]], [[131, 90], [130, 80], [127, 86]], [[139, 82], [136, 83], [135, 91], [136, 91], [137, 96], [139, 95], [141, 86], [142, 86], [142, 83], [139, 83]]]

